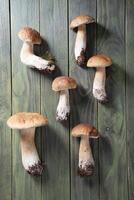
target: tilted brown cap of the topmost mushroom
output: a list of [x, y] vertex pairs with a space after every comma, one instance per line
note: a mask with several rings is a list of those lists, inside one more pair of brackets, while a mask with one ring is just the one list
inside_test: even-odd
[[70, 28], [76, 28], [78, 26], [84, 25], [84, 24], [90, 24], [93, 23], [95, 19], [91, 16], [88, 15], [80, 15], [75, 17], [71, 23], [70, 23]]

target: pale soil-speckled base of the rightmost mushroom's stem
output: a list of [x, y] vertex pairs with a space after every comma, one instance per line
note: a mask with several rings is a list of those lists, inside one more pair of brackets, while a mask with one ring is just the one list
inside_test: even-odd
[[104, 89], [93, 89], [93, 96], [98, 100], [99, 103], [107, 103], [108, 102], [108, 98], [107, 95], [105, 93]]

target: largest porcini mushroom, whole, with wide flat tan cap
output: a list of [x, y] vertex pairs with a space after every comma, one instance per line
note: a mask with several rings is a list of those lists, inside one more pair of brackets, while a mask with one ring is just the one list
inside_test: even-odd
[[35, 146], [35, 128], [48, 124], [48, 119], [39, 113], [21, 112], [11, 116], [7, 125], [20, 130], [22, 163], [31, 175], [41, 175], [43, 165]]

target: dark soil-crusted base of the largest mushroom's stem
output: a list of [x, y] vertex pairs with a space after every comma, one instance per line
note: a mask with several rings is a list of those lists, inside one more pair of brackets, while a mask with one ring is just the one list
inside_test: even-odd
[[32, 166], [29, 166], [27, 172], [34, 176], [41, 176], [43, 169], [44, 169], [44, 164], [42, 164], [40, 161], [38, 161], [38, 163], [36, 163]]

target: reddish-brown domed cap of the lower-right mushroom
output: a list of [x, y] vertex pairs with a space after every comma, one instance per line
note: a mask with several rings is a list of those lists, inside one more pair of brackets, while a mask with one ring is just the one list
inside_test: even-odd
[[71, 134], [73, 137], [81, 137], [81, 136], [89, 136], [90, 138], [99, 137], [97, 129], [90, 124], [78, 124], [72, 129]]

